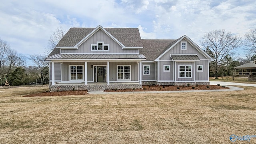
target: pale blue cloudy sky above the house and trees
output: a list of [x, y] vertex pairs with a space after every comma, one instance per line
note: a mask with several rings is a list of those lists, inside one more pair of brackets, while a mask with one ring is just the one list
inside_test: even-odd
[[[0, 39], [18, 53], [44, 54], [58, 27], [139, 28], [142, 39], [196, 44], [212, 30], [244, 38], [256, 28], [255, 0], [1, 0]], [[241, 56], [243, 49], [238, 48]], [[28, 60], [27, 65], [32, 65]]]

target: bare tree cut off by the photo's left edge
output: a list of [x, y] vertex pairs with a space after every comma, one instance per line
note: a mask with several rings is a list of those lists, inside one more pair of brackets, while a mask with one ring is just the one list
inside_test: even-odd
[[10, 50], [10, 45], [0, 39], [0, 73], [3, 73], [3, 66], [6, 62], [6, 53]]

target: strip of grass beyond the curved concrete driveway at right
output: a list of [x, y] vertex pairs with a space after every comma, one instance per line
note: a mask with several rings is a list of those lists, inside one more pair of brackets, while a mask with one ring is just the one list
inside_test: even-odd
[[232, 79], [231, 76], [224, 76], [223, 79], [222, 77], [218, 77], [218, 79], [215, 80], [215, 77], [210, 77], [210, 81], [222, 81], [222, 82], [237, 82], [237, 83], [246, 83], [246, 84], [256, 84], [256, 82], [251, 82], [248, 81], [248, 78], [246, 77], [235, 77], [234, 80]]

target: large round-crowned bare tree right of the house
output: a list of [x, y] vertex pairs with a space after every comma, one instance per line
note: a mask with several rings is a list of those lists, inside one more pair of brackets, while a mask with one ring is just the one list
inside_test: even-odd
[[241, 37], [233, 36], [231, 32], [225, 30], [213, 30], [205, 34], [200, 44], [207, 48], [209, 47], [214, 52], [215, 58], [215, 79], [218, 79], [218, 64], [227, 54], [232, 55], [232, 52], [241, 45]]

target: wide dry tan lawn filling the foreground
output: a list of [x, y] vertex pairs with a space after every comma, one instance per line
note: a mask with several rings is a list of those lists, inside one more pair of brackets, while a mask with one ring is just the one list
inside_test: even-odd
[[244, 88], [28, 98], [47, 87], [0, 89], [0, 143], [232, 143], [256, 134], [256, 88]]

